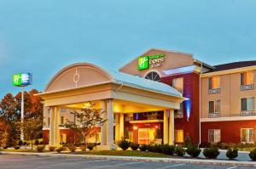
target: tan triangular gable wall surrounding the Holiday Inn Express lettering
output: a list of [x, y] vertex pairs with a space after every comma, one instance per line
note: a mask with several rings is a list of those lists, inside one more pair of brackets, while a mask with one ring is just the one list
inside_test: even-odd
[[[137, 69], [137, 59], [141, 56], [151, 56], [154, 54], [165, 54], [165, 61], [161, 63], [160, 67], [152, 68], [150, 67], [147, 70], [138, 70]], [[119, 70], [131, 75], [138, 75], [141, 77], [146, 76], [150, 71], [156, 71], [160, 76], [165, 76], [163, 70], [170, 70], [179, 67], [184, 67], [188, 65], [193, 65], [194, 59], [192, 54], [183, 54], [172, 51], [160, 50], [160, 49], [150, 49], [145, 54], [138, 56], [136, 59], [133, 59], [130, 63], [120, 68]]]

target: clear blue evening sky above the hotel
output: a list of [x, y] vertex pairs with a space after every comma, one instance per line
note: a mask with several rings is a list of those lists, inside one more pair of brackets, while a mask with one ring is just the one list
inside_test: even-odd
[[0, 0], [0, 97], [20, 91], [20, 72], [33, 75], [26, 90], [44, 91], [67, 65], [118, 70], [150, 48], [255, 60], [255, 16], [255, 0]]

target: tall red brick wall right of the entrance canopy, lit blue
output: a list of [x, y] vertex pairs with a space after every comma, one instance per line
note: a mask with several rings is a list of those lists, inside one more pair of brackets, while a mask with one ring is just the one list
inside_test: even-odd
[[[187, 134], [190, 135], [194, 144], [199, 143], [199, 95], [200, 95], [200, 78], [197, 73], [187, 73], [176, 76], [166, 76], [161, 78], [161, 82], [164, 82], [172, 86], [172, 79], [183, 77], [183, 97], [189, 98], [189, 101], [185, 101], [183, 104], [183, 119], [175, 119], [175, 129], [183, 129], [184, 138]], [[190, 106], [189, 106], [190, 104]], [[187, 112], [190, 110], [189, 121], [187, 121]]]

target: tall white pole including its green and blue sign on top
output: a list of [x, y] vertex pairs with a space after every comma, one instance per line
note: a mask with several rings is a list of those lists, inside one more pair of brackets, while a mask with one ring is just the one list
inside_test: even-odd
[[[20, 116], [21, 122], [24, 120], [24, 87], [32, 84], [32, 74], [31, 73], [21, 73], [14, 75], [14, 86], [21, 87], [21, 108], [20, 108]], [[24, 134], [21, 129], [20, 131], [20, 139], [24, 140]]]

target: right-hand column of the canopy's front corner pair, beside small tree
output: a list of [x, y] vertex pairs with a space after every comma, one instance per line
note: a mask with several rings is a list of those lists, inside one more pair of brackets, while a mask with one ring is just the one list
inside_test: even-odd
[[113, 144], [113, 100], [107, 99], [107, 145]]

